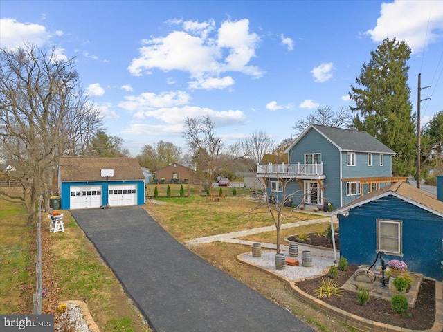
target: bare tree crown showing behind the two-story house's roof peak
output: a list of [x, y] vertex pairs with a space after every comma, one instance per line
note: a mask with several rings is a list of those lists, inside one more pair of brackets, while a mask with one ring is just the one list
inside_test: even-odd
[[309, 114], [306, 119], [298, 120], [294, 125], [296, 136], [305, 131], [309, 124], [320, 124], [328, 127], [346, 128], [352, 124], [352, 113], [347, 107], [340, 107], [338, 112], [334, 112], [332, 107], [318, 107], [314, 114]]

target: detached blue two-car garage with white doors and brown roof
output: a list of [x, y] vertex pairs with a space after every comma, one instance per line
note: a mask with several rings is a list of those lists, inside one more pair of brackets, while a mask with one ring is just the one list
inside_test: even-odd
[[145, 177], [136, 158], [60, 158], [62, 209], [145, 203]]

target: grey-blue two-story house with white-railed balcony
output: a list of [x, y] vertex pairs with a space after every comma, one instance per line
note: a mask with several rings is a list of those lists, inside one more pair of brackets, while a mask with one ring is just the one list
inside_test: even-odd
[[[258, 165], [269, 196], [294, 205], [332, 203], [339, 208], [390, 183], [395, 152], [365, 131], [311, 124], [285, 151], [288, 163]], [[284, 194], [283, 194], [284, 192]]]

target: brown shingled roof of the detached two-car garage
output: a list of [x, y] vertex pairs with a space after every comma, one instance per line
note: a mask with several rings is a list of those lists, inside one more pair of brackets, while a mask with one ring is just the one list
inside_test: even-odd
[[144, 180], [137, 158], [62, 157], [61, 181], [105, 181], [102, 169], [114, 169], [111, 181]]

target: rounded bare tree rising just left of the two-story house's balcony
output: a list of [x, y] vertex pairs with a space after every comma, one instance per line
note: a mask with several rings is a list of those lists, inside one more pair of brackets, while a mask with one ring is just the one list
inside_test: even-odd
[[266, 134], [266, 131], [255, 130], [242, 140], [242, 149], [247, 158], [255, 161], [258, 165], [265, 154], [272, 151], [274, 140]]

